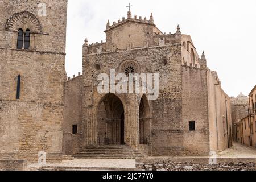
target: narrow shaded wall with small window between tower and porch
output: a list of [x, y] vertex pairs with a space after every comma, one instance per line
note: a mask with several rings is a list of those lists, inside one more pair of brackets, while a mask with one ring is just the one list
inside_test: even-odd
[[[82, 75], [65, 82], [63, 153], [72, 155], [79, 151], [81, 139]], [[77, 134], [72, 126], [77, 125]]]

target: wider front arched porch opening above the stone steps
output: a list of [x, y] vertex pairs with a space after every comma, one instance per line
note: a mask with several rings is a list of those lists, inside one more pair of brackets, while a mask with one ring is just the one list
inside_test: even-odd
[[122, 101], [106, 95], [98, 105], [98, 145], [125, 144], [125, 117]]

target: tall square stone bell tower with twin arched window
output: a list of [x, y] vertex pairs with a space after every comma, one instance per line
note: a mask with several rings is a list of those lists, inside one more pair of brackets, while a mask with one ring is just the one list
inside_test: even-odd
[[60, 160], [67, 0], [3, 0], [0, 11], [0, 159]]

